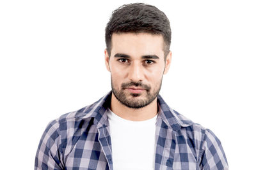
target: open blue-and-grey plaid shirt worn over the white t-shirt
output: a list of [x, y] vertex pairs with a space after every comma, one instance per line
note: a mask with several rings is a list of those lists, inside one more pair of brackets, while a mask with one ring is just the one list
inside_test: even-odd
[[[110, 101], [111, 92], [47, 125], [35, 169], [113, 169], [105, 114]], [[209, 129], [172, 110], [160, 95], [157, 104], [155, 169], [228, 169], [220, 140]]]

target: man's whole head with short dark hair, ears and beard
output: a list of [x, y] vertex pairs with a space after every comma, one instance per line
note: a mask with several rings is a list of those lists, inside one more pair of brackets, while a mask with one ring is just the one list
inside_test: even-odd
[[128, 4], [113, 12], [106, 27], [105, 63], [112, 92], [129, 108], [156, 99], [172, 53], [168, 18], [156, 7]]

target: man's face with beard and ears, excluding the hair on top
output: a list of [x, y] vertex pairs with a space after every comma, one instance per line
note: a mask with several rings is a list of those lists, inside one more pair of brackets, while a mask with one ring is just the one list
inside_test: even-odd
[[142, 108], [156, 99], [172, 54], [164, 62], [163, 36], [148, 33], [113, 34], [111, 57], [105, 62], [111, 72], [112, 92], [129, 108]]

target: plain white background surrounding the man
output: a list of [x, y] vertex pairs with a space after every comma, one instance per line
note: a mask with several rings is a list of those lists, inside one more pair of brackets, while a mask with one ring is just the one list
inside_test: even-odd
[[[109, 90], [104, 29], [138, 1], [0, 2], [1, 169], [33, 169], [46, 125]], [[140, 1], [170, 19], [161, 96], [220, 138], [230, 169], [255, 168], [253, 1]]]

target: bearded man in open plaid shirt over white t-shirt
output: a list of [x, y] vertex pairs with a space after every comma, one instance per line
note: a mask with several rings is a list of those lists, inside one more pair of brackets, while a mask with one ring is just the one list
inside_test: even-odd
[[228, 169], [219, 139], [159, 95], [172, 59], [166, 15], [121, 6], [105, 38], [111, 92], [47, 126], [35, 169]]

